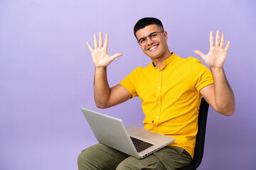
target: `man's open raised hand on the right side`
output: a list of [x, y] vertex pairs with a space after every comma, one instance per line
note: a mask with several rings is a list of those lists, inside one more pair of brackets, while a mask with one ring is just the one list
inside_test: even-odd
[[213, 40], [213, 31], [210, 31], [210, 51], [207, 55], [203, 54], [203, 52], [196, 50], [194, 51], [197, 55], [200, 55], [202, 59], [206, 62], [206, 64], [210, 67], [210, 69], [223, 69], [223, 64], [227, 57], [228, 47], [230, 46], [230, 41], [228, 41], [227, 45], [224, 47], [224, 34], [221, 33], [220, 30], [216, 32], [216, 40], [214, 46]]

